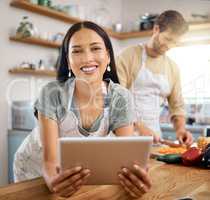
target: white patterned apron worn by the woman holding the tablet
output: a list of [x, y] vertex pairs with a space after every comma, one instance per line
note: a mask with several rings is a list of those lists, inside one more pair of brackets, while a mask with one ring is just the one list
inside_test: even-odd
[[[65, 117], [58, 124], [59, 137], [91, 137], [91, 136], [107, 136], [109, 132], [109, 106], [106, 106], [106, 98], [104, 98], [104, 113], [101, 119], [99, 129], [95, 132], [88, 132], [89, 135], [83, 135], [79, 131], [79, 121], [70, 110], [75, 82], [70, 86], [70, 101]], [[72, 88], [73, 87], [73, 88]], [[105, 95], [107, 89], [103, 86]], [[40, 140], [40, 131], [36, 127], [29, 136], [23, 141], [15, 154], [13, 171], [15, 182], [33, 179], [42, 176], [42, 145]]]

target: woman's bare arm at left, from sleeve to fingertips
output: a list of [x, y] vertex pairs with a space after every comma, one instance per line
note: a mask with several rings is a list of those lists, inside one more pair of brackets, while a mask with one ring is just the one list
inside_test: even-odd
[[43, 146], [43, 177], [52, 192], [69, 197], [85, 183], [90, 170], [81, 166], [60, 170], [57, 161], [58, 124], [40, 113], [39, 122]]

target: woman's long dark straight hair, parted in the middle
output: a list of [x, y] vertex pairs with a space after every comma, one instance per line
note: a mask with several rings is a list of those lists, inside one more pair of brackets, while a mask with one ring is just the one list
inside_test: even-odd
[[[68, 55], [69, 55], [69, 41], [71, 37], [79, 31], [82, 28], [88, 28], [93, 31], [95, 31], [98, 35], [101, 36], [101, 38], [104, 41], [104, 44], [106, 46], [107, 51], [109, 52], [110, 56], [110, 68], [111, 71], [105, 71], [103, 75], [104, 79], [111, 79], [115, 83], [119, 83], [117, 73], [116, 73], [116, 65], [114, 60], [114, 52], [112, 48], [111, 41], [109, 39], [109, 36], [107, 33], [97, 24], [90, 22], [90, 21], [84, 21], [79, 22], [71, 26], [71, 28], [66, 33], [62, 46], [60, 48], [59, 57], [56, 63], [56, 69], [57, 69], [57, 80], [59, 82], [65, 82], [68, 78], [74, 77], [73, 72], [71, 71], [71, 77], [69, 77], [69, 67], [68, 67]], [[71, 64], [71, 63], [70, 63]]]

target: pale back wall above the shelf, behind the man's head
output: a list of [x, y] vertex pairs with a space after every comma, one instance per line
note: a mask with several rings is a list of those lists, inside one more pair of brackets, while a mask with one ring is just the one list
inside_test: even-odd
[[[210, 15], [210, 1], [208, 0], [122, 0], [122, 22], [127, 29], [138, 26], [140, 16], [145, 13], [159, 14], [167, 9], [181, 12], [188, 21], [193, 19], [192, 13]], [[132, 3], [131, 3], [132, 2]], [[129, 14], [128, 14], [129, 12]]]

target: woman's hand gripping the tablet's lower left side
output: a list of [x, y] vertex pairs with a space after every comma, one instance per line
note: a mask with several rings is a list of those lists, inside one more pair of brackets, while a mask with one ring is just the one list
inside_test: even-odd
[[57, 170], [57, 175], [48, 179], [47, 185], [52, 192], [61, 197], [70, 197], [87, 181], [90, 176], [89, 169], [81, 166], [66, 170]]

